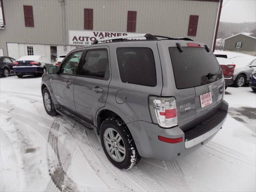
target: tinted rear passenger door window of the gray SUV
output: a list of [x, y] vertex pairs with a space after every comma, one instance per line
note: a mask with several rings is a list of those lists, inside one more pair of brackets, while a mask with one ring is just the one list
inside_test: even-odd
[[109, 77], [108, 51], [89, 50], [86, 53], [81, 75], [107, 80]]

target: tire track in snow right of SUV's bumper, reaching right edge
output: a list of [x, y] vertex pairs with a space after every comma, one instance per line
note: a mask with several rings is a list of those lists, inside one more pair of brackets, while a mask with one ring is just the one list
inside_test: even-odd
[[230, 148], [227, 148], [225, 146], [222, 146], [212, 141], [208, 142], [208, 144], [206, 144], [206, 147], [211, 148], [212, 150], [215, 150], [233, 159], [239, 160], [240, 162], [243, 162], [245, 164], [255, 167], [255, 159], [248, 157], [240, 152], [234, 151]]

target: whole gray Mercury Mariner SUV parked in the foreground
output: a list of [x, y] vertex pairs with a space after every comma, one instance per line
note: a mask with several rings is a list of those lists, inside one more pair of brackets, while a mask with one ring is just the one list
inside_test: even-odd
[[151, 34], [125, 38], [76, 48], [58, 68], [48, 67], [46, 112], [95, 130], [122, 170], [141, 157], [174, 160], [206, 144], [228, 111], [224, 76], [208, 46]]

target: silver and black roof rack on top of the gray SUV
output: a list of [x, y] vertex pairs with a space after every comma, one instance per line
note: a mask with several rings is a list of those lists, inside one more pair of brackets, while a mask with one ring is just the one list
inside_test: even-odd
[[102, 38], [102, 39], [97, 39], [94, 41], [92, 44], [98, 44], [101, 41], [108, 41], [112, 40], [112, 42], [116, 41], [124, 41], [128, 40], [127, 38], [141, 38], [145, 37], [146, 40], [159, 40], [158, 37], [168, 39], [168, 40], [185, 40], [185, 41], [193, 41], [190, 38], [171, 38], [171, 37], [165, 37], [165, 36], [158, 36], [158, 35], [152, 35], [152, 34], [134, 34], [134, 35], [125, 35], [125, 36], [118, 36], [118, 37], [110, 37], [110, 38]]

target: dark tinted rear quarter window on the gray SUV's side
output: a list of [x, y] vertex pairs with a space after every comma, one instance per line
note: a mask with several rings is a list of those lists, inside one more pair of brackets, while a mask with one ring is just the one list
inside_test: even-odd
[[150, 48], [118, 48], [116, 56], [122, 82], [156, 86], [156, 67]]

